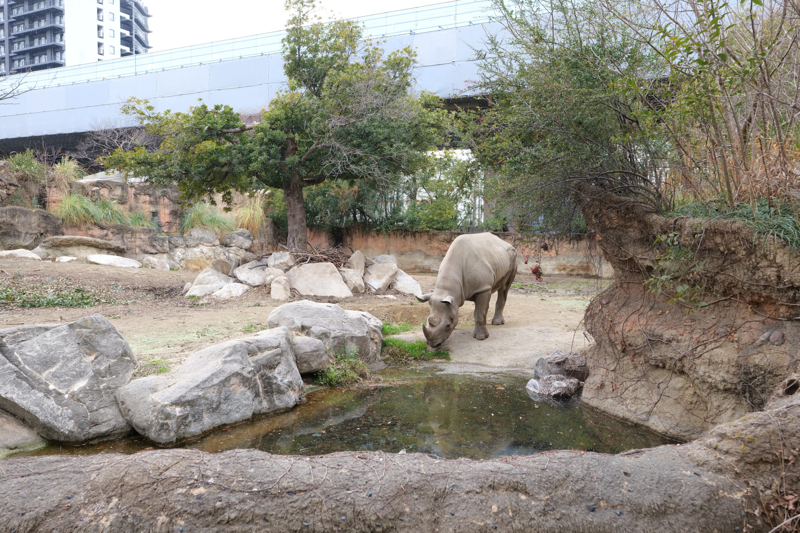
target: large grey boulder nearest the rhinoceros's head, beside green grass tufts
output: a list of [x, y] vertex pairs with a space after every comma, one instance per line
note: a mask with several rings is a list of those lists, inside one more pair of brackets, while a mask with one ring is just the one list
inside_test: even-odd
[[366, 364], [381, 362], [383, 323], [368, 312], [300, 300], [274, 308], [266, 320], [270, 328], [286, 326], [292, 332], [322, 340], [332, 352], [356, 348]]

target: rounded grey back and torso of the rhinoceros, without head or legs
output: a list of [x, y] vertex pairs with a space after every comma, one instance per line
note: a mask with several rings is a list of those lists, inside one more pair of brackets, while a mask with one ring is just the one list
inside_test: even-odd
[[492, 233], [459, 235], [447, 250], [436, 288], [460, 296], [460, 304], [478, 292], [496, 291], [516, 271], [513, 245]]

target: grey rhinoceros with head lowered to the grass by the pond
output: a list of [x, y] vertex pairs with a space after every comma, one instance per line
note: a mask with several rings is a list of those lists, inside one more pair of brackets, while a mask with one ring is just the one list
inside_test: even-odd
[[458, 308], [466, 300], [475, 302], [472, 336], [486, 339], [489, 336], [486, 312], [492, 293], [498, 293], [492, 324], [504, 324], [502, 309], [516, 273], [516, 249], [500, 237], [492, 233], [456, 237], [439, 268], [434, 292], [417, 297], [421, 302], [430, 303], [428, 324], [422, 326], [428, 345], [438, 348], [450, 337], [458, 324]]

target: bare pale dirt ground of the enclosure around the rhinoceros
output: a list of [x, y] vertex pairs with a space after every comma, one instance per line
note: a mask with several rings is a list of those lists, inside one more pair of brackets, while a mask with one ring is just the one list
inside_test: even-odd
[[[412, 275], [423, 291], [432, 290], [435, 275]], [[254, 288], [238, 300], [195, 304], [181, 296], [184, 284], [195, 276], [197, 272], [119, 268], [84, 261], [3, 259], [0, 293], [10, 288], [35, 296], [48, 292], [73, 293], [79, 288], [98, 301], [88, 308], [21, 308], [18, 304], [0, 304], [0, 328], [69, 322], [100, 313], [128, 340], [140, 361], [136, 376], [144, 376], [159, 368], [172, 367], [210, 344], [266, 328], [270, 311], [282, 303], [272, 300], [264, 288]], [[457, 330], [443, 347], [450, 351], [451, 360], [495, 368], [532, 368], [538, 357], [556, 349], [584, 348], [588, 339], [582, 327], [583, 310], [608, 281], [579, 278], [545, 281], [546, 285], [538, 285], [530, 276], [518, 276], [506, 304], [506, 324], [488, 326], [490, 336], [486, 340], [472, 337], [474, 304], [466, 302]], [[396, 299], [358, 295], [335, 301], [344, 308], [368, 311], [386, 322], [413, 325], [413, 330], [401, 335], [404, 339], [424, 338], [421, 324], [428, 315], [428, 304], [420, 304], [410, 296], [394, 296]]]

